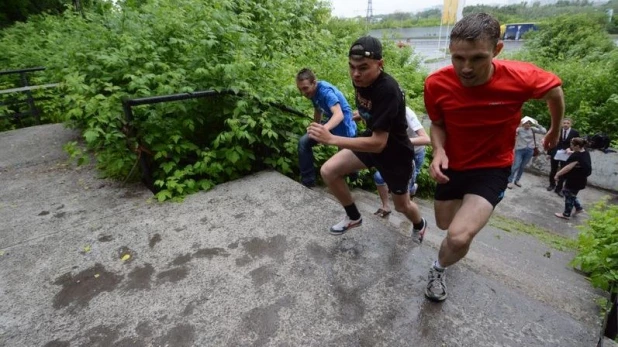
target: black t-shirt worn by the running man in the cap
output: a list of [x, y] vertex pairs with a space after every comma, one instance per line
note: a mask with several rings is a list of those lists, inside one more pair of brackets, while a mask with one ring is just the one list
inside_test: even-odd
[[[388, 132], [386, 147], [376, 154], [376, 159], [389, 165], [391, 161], [414, 156], [414, 146], [406, 132], [405, 97], [399, 84], [386, 72], [369, 87], [355, 87], [356, 107], [365, 120], [367, 129]], [[370, 135], [370, 134], [367, 134]], [[407, 159], [406, 159], [407, 161]]]

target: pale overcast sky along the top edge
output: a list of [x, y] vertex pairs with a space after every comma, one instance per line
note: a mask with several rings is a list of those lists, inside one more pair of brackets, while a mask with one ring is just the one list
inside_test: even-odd
[[[466, 5], [505, 5], [509, 3], [509, 0], [465, 1]], [[337, 17], [356, 17], [367, 14], [367, 0], [330, 0], [330, 2], [333, 7], [333, 15]], [[372, 0], [371, 2], [374, 15], [393, 13], [395, 11], [417, 12], [435, 6], [441, 7], [444, 4], [444, 0]]]

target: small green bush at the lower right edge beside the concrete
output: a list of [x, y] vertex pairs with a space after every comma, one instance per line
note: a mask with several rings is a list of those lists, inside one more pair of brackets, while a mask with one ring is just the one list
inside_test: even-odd
[[580, 228], [572, 265], [588, 274], [596, 288], [618, 293], [618, 205], [597, 203]]

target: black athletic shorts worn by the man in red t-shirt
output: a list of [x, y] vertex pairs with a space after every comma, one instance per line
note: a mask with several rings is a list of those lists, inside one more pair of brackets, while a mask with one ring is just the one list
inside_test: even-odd
[[466, 171], [444, 170], [449, 178], [445, 184], [436, 186], [436, 200], [461, 200], [466, 194], [482, 196], [496, 207], [504, 198], [511, 167], [500, 169], [474, 169]]

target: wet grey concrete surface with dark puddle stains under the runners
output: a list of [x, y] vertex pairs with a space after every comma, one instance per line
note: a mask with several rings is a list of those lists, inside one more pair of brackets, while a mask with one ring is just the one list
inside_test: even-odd
[[278, 173], [161, 204], [68, 164], [75, 138], [0, 133], [0, 346], [596, 343], [599, 293], [529, 235], [483, 230], [435, 304], [423, 290], [443, 233], [414, 244], [370, 193], [354, 193], [363, 225], [335, 237], [342, 208]]

